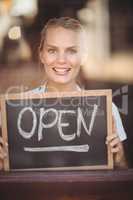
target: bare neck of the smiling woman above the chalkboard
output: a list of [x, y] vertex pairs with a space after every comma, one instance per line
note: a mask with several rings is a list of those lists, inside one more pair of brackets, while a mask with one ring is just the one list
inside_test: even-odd
[[71, 92], [71, 91], [79, 91], [78, 85], [76, 82], [67, 83], [67, 84], [58, 84], [48, 81], [46, 83], [46, 91], [47, 92]]

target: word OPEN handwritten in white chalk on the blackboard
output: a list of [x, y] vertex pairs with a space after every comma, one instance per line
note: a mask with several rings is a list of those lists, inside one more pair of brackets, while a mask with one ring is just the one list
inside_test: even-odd
[[[71, 135], [70, 134], [69, 135], [65, 135], [63, 133], [62, 128], [63, 127], [68, 127], [69, 123], [63, 123], [62, 122], [62, 115], [63, 114], [64, 115], [76, 114], [76, 111], [74, 111], [74, 110], [59, 110], [59, 111], [57, 111], [54, 108], [49, 108], [49, 109], [40, 108], [40, 118], [39, 118], [39, 128], [38, 128], [38, 141], [43, 139], [43, 135], [42, 135], [43, 129], [51, 128], [56, 123], [57, 123], [58, 131], [59, 131], [59, 135], [60, 135], [61, 139], [64, 140], [64, 141], [72, 141], [72, 140], [74, 140], [76, 138], [76, 136], [80, 137], [80, 134], [81, 134], [81, 123], [82, 123], [86, 133], [90, 136], [91, 132], [92, 132], [93, 125], [94, 125], [94, 121], [95, 121], [95, 117], [96, 117], [96, 112], [97, 112], [98, 106], [96, 104], [94, 104], [93, 107], [94, 108], [93, 108], [93, 112], [92, 112], [92, 115], [91, 115], [89, 129], [87, 129], [86, 122], [85, 122], [83, 114], [82, 114], [82, 110], [81, 110], [80, 107], [78, 107], [78, 109], [77, 109], [77, 111], [78, 111], [77, 112], [77, 132], [73, 133]], [[27, 111], [31, 112], [32, 117], [33, 117], [32, 128], [31, 128], [31, 131], [29, 131], [29, 132], [28, 131], [24, 131], [22, 129], [22, 127], [21, 127], [23, 115]], [[52, 122], [45, 124], [44, 121], [43, 121], [43, 118], [45, 117], [45, 115], [48, 112], [54, 113], [55, 118], [54, 118], [54, 120]], [[20, 135], [23, 138], [30, 139], [34, 135], [35, 129], [36, 129], [36, 126], [37, 126], [37, 117], [36, 117], [35, 111], [31, 107], [23, 108], [20, 111], [19, 116], [18, 116], [17, 126], [18, 126], [18, 131], [19, 131]]]

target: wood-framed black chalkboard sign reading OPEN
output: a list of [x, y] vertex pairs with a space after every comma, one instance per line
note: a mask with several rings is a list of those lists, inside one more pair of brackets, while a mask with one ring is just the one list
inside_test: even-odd
[[111, 90], [2, 96], [5, 170], [110, 169]]

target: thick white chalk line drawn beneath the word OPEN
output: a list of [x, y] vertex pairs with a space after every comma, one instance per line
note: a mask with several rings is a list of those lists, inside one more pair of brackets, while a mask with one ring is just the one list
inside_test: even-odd
[[28, 152], [52, 152], [52, 151], [74, 151], [87, 152], [89, 145], [75, 145], [75, 146], [54, 146], [54, 147], [24, 147], [24, 151]]

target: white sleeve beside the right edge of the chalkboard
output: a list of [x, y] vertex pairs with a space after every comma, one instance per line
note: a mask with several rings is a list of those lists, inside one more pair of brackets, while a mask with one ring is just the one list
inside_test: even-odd
[[115, 120], [116, 129], [117, 129], [117, 133], [119, 135], [119, 138], [120, 138], [121, 141], [124, 141], [124, 140], [127, 139], [127, 135], [126, 135], [126, 132], [124, 130], [118, 108], [114, 103], [112, 103], [112, 114], [113, 114], [113, 117], [114, 117], [114, 120]]

